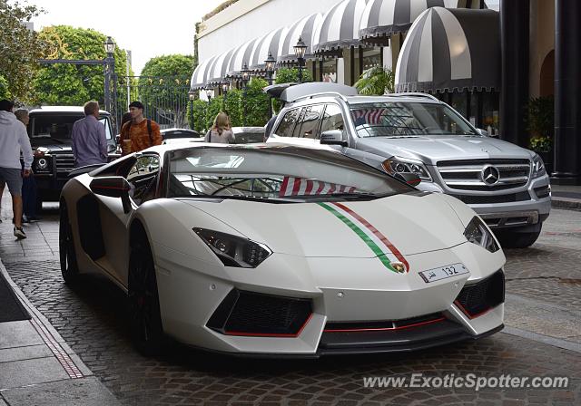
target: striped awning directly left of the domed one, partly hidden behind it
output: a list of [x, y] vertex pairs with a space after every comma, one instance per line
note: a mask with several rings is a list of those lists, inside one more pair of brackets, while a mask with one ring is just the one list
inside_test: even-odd
[[369, 0], [359, 24], [361, 43], [387, 45], [393, 34], [405, 33], [430, 7], [455, 8], [458, 0]]

